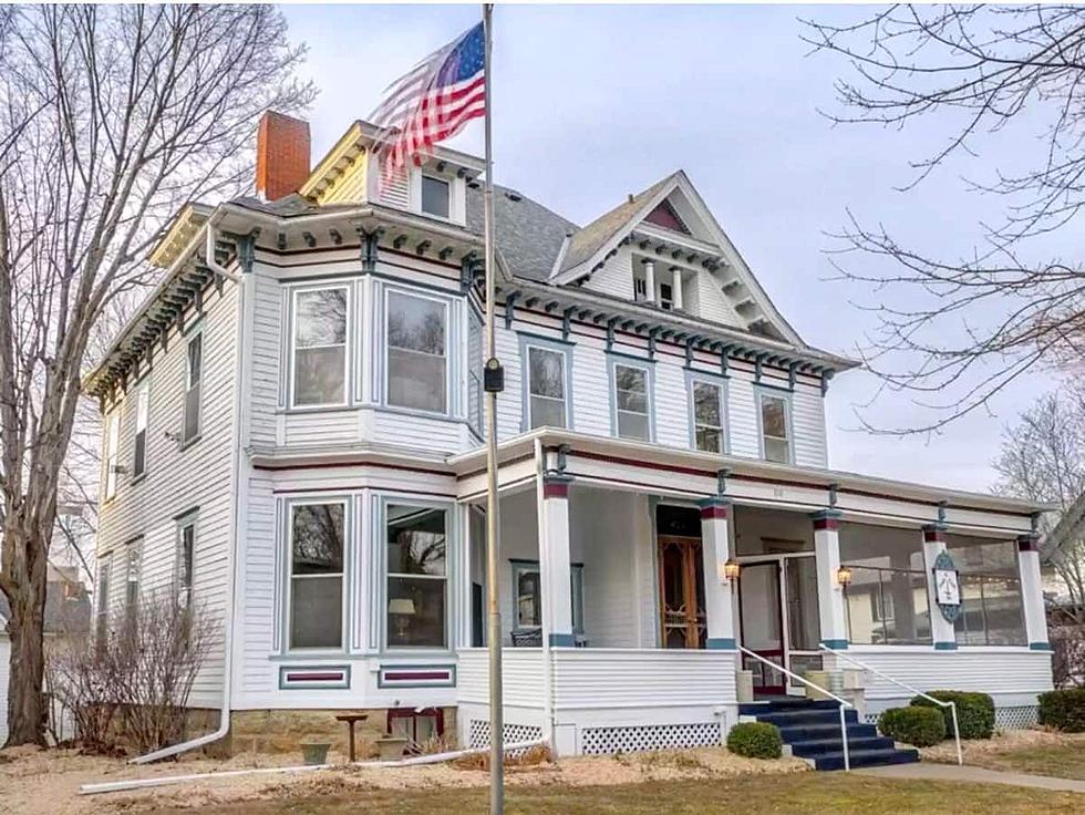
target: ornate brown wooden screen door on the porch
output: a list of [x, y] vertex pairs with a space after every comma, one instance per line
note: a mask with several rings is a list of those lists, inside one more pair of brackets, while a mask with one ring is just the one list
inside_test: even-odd
[[660, 535], [660, 630], [663, 648], [704, 648], [704, 566], [701, 539]]

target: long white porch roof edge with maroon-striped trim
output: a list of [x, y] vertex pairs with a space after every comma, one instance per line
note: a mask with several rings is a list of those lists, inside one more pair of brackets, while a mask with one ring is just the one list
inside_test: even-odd
[[[536, 442], [544, 448], [567, 445], [570, 460], [579, 457], [613, 465], [616, 470], [640, 467], [685, 476], [690, 486], [686, 492], [690, 494], [700, 492], [705, 496], [715, 493], [714, 485], [717, 473], [725, 470], [727, 471], [728, 483], [735, 485], [775, 485], [778, 488], [790, 487], [800, 491], [812, 506], [845, 505], [845, 498], [849, 497], [868, 502], [905, 502], [922, 505], [929, 508], [926, 518], [931, 523], [943, 519], [941, 515], [950, 512], [955, 512], [958, 520], [961, 522], [963, 522], [962, 514], [978, 512], [1031, 519], [1034, 514], [1051, 508], [1046, 504], [1001, 495], [916, 484], [860, 473], [775, 464], [760, 460], [664, 447], [659, 444], [595, 436], [551, 427], [540, 427], [502, 442], [498, 445], [500, 466], [504, 468], [515, 463], [523, 463], [525, 458], [534, 456]], [[486, 451], [479, 448], [452, 456], [448, 464], [461, 481], [464, 481], [485, 471]], [[572, 468], [570, 465], [570, 470]], [[730, 494], [731, 489], [728, 488], [727, 492]], [[855, 501], [849, 503], [854, 505]], [[840, 506], [840, 508], [846, 507]], [[952, 517], [944, 519], [951, 524], [954, 523]], [[1014, 524], [1014, 527], [1016, 526], [1019, 524]]]

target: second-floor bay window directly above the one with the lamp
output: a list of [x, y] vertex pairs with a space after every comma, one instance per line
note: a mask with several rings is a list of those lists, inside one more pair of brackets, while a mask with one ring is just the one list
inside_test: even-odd
[[430, 297], [388, 295], [388, 403], [448, 410], [448, 307]]

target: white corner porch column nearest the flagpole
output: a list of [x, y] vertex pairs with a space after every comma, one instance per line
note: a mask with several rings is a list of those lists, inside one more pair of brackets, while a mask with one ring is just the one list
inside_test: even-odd
[[572, 565], [569, 556], [569, 484], [559, 473], [542, 476], [539, 515], [539, 578], [542, 633], [547, 644], [572, 647]]

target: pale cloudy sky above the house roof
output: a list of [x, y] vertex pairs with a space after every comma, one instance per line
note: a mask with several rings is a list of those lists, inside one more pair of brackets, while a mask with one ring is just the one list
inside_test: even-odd
[[[866, 11], [868, 11], [867, 9]], [[302, 75], [320, 95], [309, 112], [313, 161], [415, 61], [473, 25], [477, 6], [288, 6]], [[950, 124], [906, 132], [834, 126], [834, 82], [848, 65], [812, 54], [800, 19], [855, 21], [861, 7], [498, 7], [493, 68], [497, 183], [578, 224], [678, 168], [715, 214], [776, 307], [812, 345], [855, 358], [877, 326], [860, 308], [878, 292], [840, 281], [833, 235], [854, 213], [902, 244], [936, 257], [968, 255], [980, 224], [1004, 202], [967, 189], [1036, 149], [1041, 120], [991, 134], [910, 192], [909, 162], [944, 143]], [[1032, 116], [1032, 118], [1030, 118]], [[480, 154], [479, 123], [450, 146]], [[1064, 230], [1068, 231], [1068, 230]], [[1062, 240], [1065, 246], [1056, 245]], [[1045, 251], [1070, 250], [1055, 236]], [[868, 262], [861, 257], [848, 264]], [[859, 267], [861, 268], [861, 267]], [[991, 318], [993, 314], [979, 316]], [[860, 429], [857, 411], [881, 426], [916, 426], [928, 409], [908, 394], [878, 394], [857, 370], [829, 389], [829, 465], [836, 470], [985, 492], [1004, 427], [1044, 391], [1050, 375], [1019, 380], [989, 410], [934, 436]], [[877, 398], [876, 398], [877, 395]], [[871, 404], [871, 399], [875, 399]]]

